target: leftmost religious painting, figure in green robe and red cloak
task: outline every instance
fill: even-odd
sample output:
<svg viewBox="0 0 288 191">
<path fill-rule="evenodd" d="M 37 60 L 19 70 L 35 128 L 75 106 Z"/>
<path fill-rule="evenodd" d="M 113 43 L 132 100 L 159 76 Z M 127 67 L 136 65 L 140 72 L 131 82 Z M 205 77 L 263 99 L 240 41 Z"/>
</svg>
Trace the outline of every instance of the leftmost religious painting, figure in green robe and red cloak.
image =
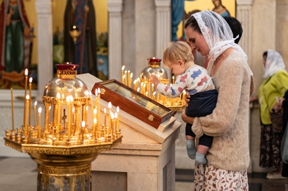
<svg viewBox="0 0 288 191">
<path fill-rule="evenodd" d="M 35 1 L 0 0 L 1 89 L 24 89 L 25 75 L 32 77 L 31 88 L 37 89 Z"/>
</svg>

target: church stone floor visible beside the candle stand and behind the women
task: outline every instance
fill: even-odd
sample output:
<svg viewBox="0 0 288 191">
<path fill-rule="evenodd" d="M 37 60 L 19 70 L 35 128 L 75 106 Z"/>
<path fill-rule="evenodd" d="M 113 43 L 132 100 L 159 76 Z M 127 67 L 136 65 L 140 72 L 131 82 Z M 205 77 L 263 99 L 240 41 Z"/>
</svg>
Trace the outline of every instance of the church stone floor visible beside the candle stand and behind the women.
<svg viewBox="0 0 288 191">
<path fill-rule="evenodd" d="M 249 191 L 288 191 L 288 179 L 267 180 L 265 173 L 248 174 Z M 193 190 L 193 171 L 176 170 L 176 191 Z M 37 165 L 30 158 L 0 157 L 0 191 L 36 191 Z"/>
</svg>

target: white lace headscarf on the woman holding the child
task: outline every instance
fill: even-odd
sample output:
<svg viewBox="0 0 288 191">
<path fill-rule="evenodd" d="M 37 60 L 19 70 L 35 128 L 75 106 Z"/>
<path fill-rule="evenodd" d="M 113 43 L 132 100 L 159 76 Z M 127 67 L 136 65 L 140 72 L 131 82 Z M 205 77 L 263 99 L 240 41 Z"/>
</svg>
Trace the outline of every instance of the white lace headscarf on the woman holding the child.
<svg viewBox="0 0 288 191">
<path fill-rule="evenodd" d="M 234 42 L 233 33 L 227 21 L 213 11 L 201 11 L 192 15 L 197 21 L 202 35 L 209 46 L 208 57 L 214 62 L 220 54 L 228 48 L 241 52 L 247 61 L 247 55 L 242 48 Z M 210 32 L 211 31 L 211 32 Z M 250 70 L 251 76 L 253 75 Z"/>
</svg>

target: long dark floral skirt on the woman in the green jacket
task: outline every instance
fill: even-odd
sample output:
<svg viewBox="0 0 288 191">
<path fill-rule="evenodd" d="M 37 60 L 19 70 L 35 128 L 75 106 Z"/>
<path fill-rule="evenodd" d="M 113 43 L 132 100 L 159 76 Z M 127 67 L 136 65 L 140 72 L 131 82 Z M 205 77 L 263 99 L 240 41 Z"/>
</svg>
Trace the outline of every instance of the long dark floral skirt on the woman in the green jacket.
<svg viewBox="0 0 288 191">
<path fill-rule="evenodd" d="M 282 127 L 261 125 L 260 167 L 279 168 L 282 166 L 280 147 Z"/>
</svg>

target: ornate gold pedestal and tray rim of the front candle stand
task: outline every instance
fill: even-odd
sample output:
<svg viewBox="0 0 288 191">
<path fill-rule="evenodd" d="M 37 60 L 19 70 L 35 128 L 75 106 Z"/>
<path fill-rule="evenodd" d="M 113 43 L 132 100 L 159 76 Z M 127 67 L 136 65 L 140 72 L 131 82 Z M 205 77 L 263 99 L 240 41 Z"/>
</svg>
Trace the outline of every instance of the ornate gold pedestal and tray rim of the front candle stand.
<svg viewBox="0 0 288 191">
<path fill-rule="evenodd" d="M 122 135 L 110 142 L 63 146 L 18 142 L 12 136 L 4 140 L 38 164 L 37 191 L 91 191 L 91 163 L 101 151 L 118 146 Z"/>
</svg>

